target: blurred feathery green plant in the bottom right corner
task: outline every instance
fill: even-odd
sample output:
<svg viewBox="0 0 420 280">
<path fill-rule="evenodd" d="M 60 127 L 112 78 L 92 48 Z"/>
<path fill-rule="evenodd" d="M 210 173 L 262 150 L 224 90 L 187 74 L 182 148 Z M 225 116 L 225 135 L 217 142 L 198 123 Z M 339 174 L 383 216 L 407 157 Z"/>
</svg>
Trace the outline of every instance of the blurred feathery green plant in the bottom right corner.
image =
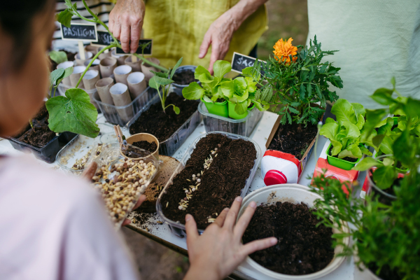
<svg viewBox="0 0 420 280">
<path fill-rule="evenodd" d="M 346 222 L 353 225 L 349 233 L 332 235 L 333 246 L 344 247 L 341 255 L 357 253 L 360 268 L 363 263 L 385 280 L 381 272 L 390 270 L 400 279 L 420 279 L 420 181 L 416 173 L 405 176 L 391 206 L 370 195 L 365 200 L 347 196 L 342 188 L 351 193 L 349 182 L 343 184 L 323 174 L 311 184 L 315 187 L 312 191 L 322 197 L 316 200 L 313 212 L 320 223 L 337 230 Z M 342 243 L 343 237 L 351 237 L 353 243 Z"/>
</svg>

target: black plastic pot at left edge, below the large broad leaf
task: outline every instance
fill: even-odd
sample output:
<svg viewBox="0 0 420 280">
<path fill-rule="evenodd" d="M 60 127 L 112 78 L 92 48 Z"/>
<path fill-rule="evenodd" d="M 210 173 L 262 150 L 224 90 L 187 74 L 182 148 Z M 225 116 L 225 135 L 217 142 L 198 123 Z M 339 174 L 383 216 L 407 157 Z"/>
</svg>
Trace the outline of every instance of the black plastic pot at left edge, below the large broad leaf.
<svg viewBox="0 0 420 280">
<path fill-rule="evenodd" d="M 71 139 L 76 137 L 76 133 L 72 132 L 63 132 L 58 134 L 56 137 L 51 139 L 45 146 L 42 148 L 34 147 L 24 142 L 19 141 L 15 138 L 9 138 L 10 144 L 12 144 L 13 148 L 18 151 L 28 150 L 31 151 L 35 158 L 39 160 L 43 160 L 44 162 L 52 163 L 55 162 L 55 156 Z"/>
</svg>

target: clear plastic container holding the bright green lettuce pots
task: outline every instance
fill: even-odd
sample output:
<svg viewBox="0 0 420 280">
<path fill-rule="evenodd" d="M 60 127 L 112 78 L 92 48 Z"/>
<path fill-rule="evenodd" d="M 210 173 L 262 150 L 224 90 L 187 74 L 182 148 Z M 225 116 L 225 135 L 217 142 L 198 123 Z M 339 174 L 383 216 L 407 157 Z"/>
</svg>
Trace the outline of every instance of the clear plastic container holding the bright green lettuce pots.
<svg viewBox="0 0 420 280">
<path fill-rule="evenodd" d="M 223 131 L 246 137 L 251 135 L 253 129 L 262 118 L 263 113 L 254 108 L 252 111 L 248 112 L 248 116 L 245 118 L 235 120 L 233 118 L 225 118 L 209 113 L 203 102 L 200 102 L 200 105 L 198 105 L 198 111 L 203 116 L 206 132 Z"/>
</svg>

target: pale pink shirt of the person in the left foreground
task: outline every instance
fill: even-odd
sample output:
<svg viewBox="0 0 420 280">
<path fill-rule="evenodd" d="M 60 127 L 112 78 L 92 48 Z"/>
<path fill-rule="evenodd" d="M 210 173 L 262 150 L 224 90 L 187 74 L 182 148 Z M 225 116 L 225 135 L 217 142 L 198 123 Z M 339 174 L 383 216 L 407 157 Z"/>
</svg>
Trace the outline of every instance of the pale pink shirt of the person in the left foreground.
<svg viewBox="0 0 420 280">
<path fill-rule="evenodd" d="M 139 279 L 102 198 L 83 179 L 0 158 L 0 279 Z"/>
</svg>

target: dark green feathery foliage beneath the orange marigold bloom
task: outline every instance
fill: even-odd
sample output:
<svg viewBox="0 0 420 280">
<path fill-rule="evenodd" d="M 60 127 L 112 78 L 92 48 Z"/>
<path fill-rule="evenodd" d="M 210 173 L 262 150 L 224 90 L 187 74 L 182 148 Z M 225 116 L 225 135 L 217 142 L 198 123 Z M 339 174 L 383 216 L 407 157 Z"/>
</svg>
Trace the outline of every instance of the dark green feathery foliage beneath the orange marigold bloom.
<svg viewBox="0 0 420 280">
<path fill-rule="evenodd" d="M 276 113 L 282 115 L 281 124 L 316 125 L 325 112 L 326 102 L 338 99 L 335 91 L 330 90 L 330 85 L 343 87 L 342 79 L 337 75 L 339 68 L 332 66 L 331 62 L 321 62 L 325 56 L 334 55 L 337 50 L 321 50 L 316 36 L 314 41 L 309 41 L 309 48 L 302 45 L 293 48 L 300 48 L 300 51 L 296 55 L 289 55 L 289 59 L 274 55 L 269 57 L 267 63 L 255 63 L 253 71 L 244 75 L 253 78 L 261 86 L 255 93 L 255 99 L 260 104 L 266 108 L 269 105 L 282 105 L 281 109 L 272 106 Z M 262 73 L 259 78 L 255 75 L 257 72 Z"/>
</svg>

